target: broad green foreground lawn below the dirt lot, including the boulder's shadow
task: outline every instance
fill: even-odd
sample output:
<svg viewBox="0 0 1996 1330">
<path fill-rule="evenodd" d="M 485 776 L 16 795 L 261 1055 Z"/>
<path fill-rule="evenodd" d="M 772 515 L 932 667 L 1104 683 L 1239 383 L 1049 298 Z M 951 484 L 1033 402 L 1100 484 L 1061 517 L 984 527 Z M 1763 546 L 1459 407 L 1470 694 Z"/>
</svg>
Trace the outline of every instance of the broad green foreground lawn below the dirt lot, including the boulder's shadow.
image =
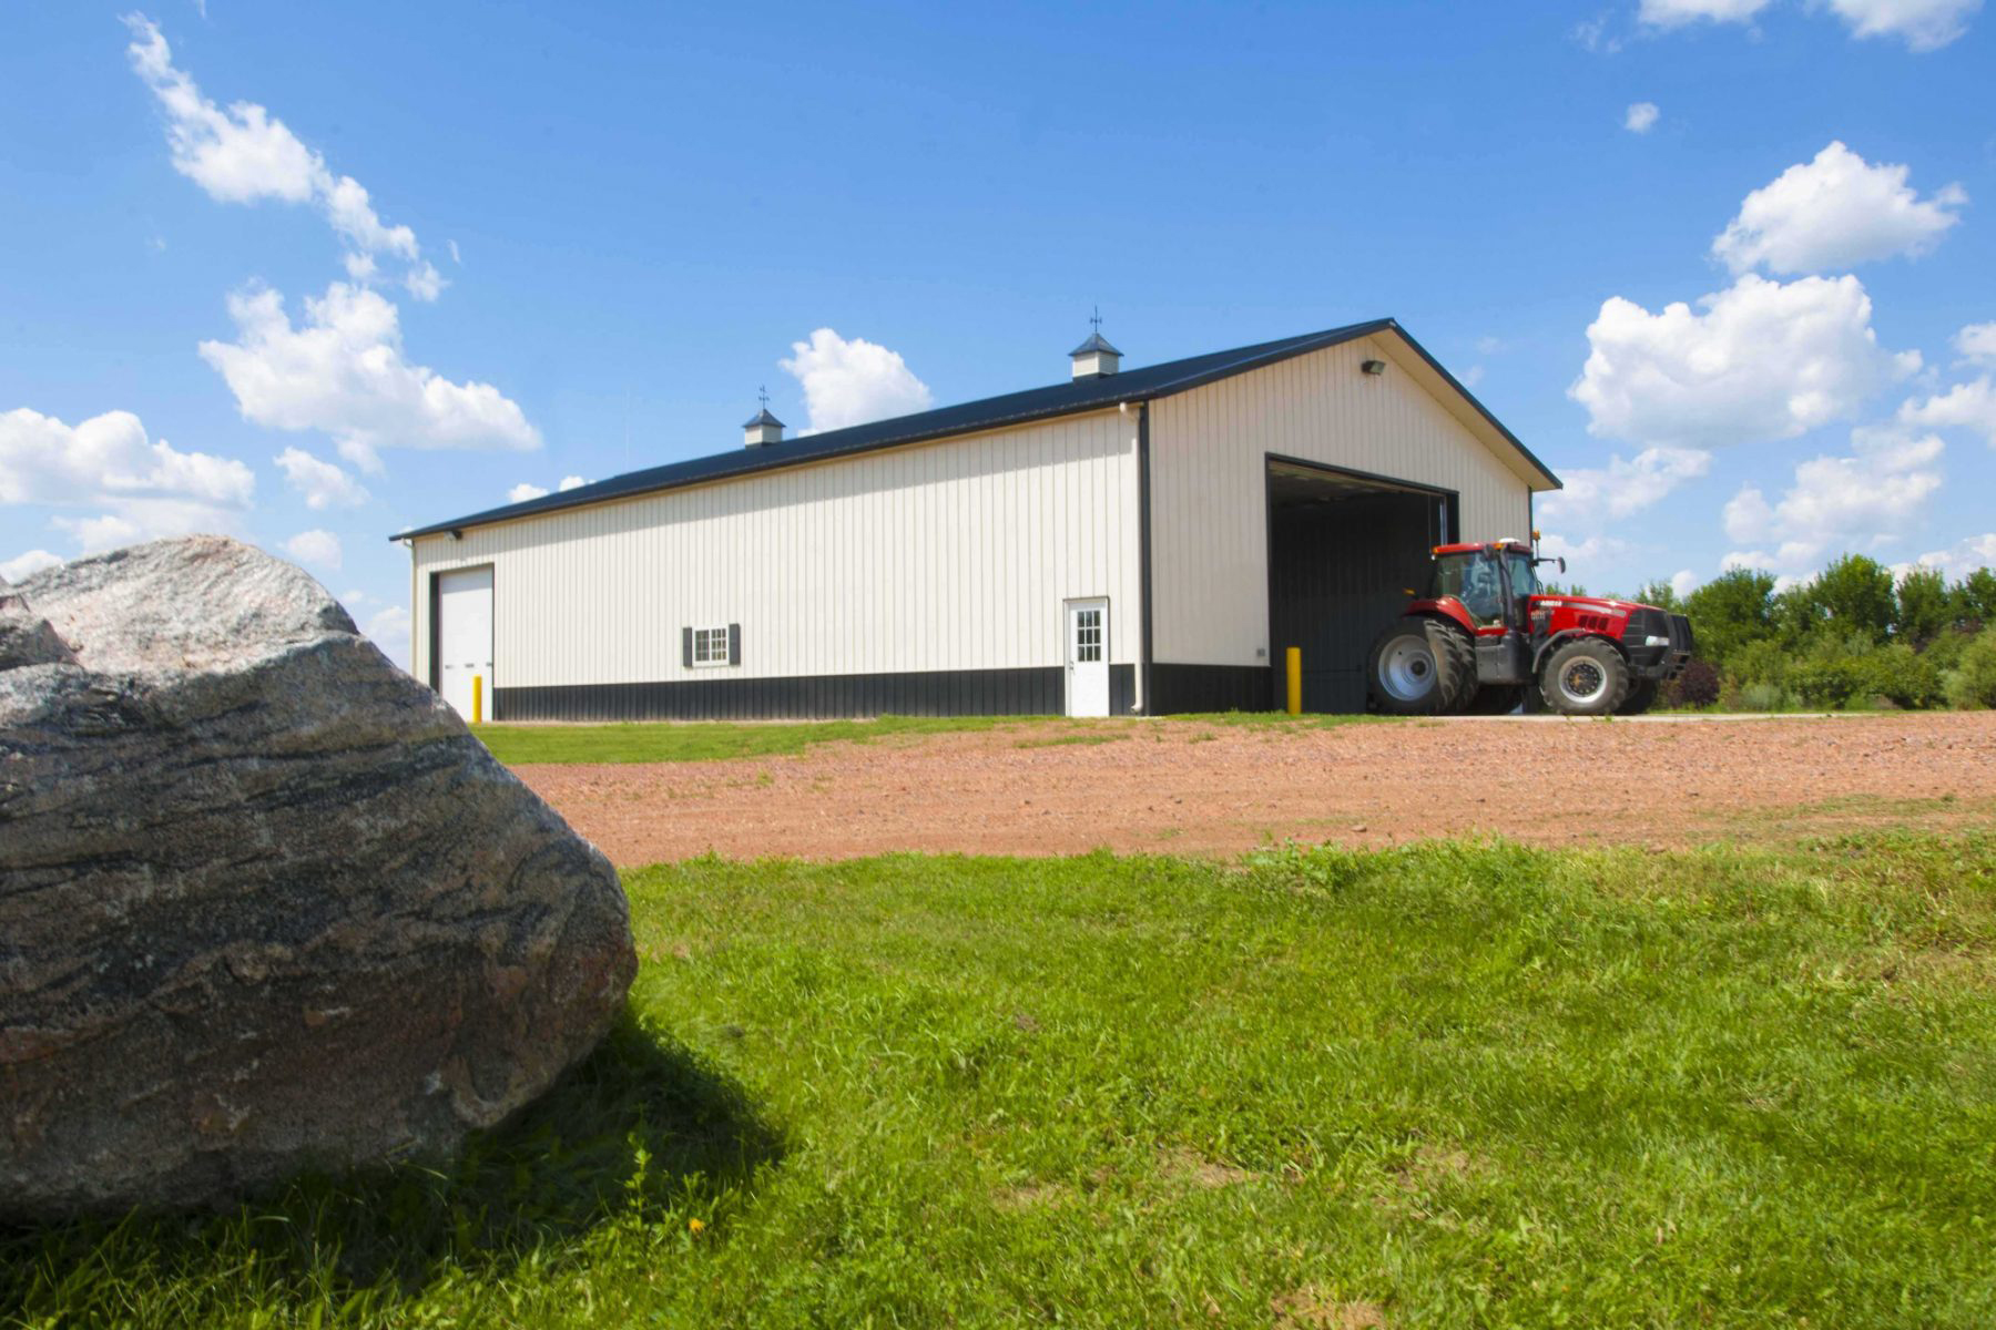
<svg viewBox="0 0 1996 1330">
<path fill-rule="evenodd" d="M 629 1021 L 459 1166 L 4 1234 L 0 1314 L 1996 1324 L 1996 839 L 627 883 Z"/>
</svg>

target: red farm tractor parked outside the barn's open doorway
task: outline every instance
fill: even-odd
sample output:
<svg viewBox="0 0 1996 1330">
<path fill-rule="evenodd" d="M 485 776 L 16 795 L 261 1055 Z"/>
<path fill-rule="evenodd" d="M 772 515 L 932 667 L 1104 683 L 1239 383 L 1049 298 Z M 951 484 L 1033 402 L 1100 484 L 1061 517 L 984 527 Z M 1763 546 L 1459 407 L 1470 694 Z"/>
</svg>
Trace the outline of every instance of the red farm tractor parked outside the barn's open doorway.
<svg viewBox="0 0 1996 1330">
<path fill-rule="evenodd" d="M 1691 620 L 1629 600 L 1545 594 L 1545 562 L 1555 560 L 1523 540 L 1437 544 L 1427 594 L 1373 642 L 1373 706 L 1501 714 L 1543 698 L 1561 716 L 1647 712 L 1691 660 Z"/>
</svg>

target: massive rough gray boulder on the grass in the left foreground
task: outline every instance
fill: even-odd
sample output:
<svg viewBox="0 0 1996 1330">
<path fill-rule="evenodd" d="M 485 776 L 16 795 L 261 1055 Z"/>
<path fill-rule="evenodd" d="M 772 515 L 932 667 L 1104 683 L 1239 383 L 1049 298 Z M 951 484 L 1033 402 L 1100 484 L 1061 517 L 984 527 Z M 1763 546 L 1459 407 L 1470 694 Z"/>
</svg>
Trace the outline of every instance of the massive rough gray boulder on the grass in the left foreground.
<svg viewBox="0 0 1996 1330">
<path fill-rule="evenodd" d="M 0 592 L 0 1218 L 445 1157 L 611 1027 L 609 861 L 309 576 Z"/>
</svg>

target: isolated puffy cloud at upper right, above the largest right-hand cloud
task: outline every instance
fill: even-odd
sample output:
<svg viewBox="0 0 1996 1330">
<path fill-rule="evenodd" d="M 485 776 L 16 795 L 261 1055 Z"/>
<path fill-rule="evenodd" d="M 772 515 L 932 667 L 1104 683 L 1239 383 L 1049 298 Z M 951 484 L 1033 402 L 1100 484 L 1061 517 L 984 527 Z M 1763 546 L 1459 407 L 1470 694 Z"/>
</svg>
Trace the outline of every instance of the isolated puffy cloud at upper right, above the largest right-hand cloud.
<svg viewBox="0 0 1996 1330">
<path fill-rule="evenodd" d="M 1814 160 L 1790 166 L 1741 203 L 1713 255 L 1735 273 L 1816 273 L 1868 259 L 1918 257 L 1960 221 L 1968 193 L 1942 185 L 1920 197 L 1910 167 L 1872 166 L 1832 142 Z"/>
</svg>

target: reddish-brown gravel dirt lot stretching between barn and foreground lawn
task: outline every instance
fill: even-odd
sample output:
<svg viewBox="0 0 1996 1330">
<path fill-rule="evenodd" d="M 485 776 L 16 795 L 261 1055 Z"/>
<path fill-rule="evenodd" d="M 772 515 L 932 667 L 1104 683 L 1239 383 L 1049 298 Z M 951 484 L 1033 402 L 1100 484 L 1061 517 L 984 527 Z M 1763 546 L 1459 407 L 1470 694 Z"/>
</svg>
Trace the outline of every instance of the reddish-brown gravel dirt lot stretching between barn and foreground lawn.
<svg viewBox="0 0 1996 1330">
<path fill-rule="evenodd" d="M 709 849 L 1234 853 L 1465 833 L 1685 845 L 1996 826 L 1992 712 L 1323 730 L 1116 720 L 517 770 L 621 865 Z"/>
</svg>

